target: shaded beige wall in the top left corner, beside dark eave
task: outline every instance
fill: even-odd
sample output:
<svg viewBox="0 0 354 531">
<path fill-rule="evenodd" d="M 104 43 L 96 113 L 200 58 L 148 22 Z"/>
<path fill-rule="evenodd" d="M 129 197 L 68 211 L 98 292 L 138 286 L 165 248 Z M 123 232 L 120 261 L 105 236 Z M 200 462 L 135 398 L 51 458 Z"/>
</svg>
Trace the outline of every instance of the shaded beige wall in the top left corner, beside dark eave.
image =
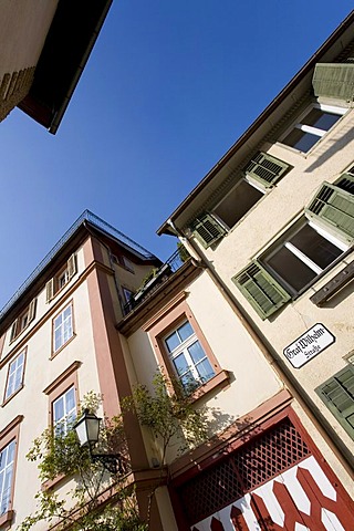
<svg viewBox="0 0 354 531">
<path fill-rule="evenodd" d="M 0 80 L 37 64 L 58 0 L 1 0 Z"/>
</svg>

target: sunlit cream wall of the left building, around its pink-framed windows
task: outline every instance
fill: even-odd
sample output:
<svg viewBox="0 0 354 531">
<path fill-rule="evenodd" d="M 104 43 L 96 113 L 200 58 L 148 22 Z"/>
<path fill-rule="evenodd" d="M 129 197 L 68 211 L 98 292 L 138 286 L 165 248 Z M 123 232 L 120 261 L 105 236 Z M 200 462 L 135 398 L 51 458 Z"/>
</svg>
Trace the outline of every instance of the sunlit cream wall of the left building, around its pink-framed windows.
<svg viewBox="0 0 354 531">
<path fill-rule="evenodd" d="M 63 373 L 74 361 L 82 362 L 77 369 L 79 395 L 83 397 L 87 392 L 100 393 L 95 348 L 90 314 L 90 301 L 86 281 L 81 282 L 84 273 L 83 249 L 77 251 L 77 272 L 67 285 L 54 298 L 51 303 L 45 303 L 45 289 L 38 294 L 35 320 L 19 339 L 9 346 L 8 341 L 3 354 L 14 355 L 27 345 L 27 364 L 24 371 L 24 386 L 1 409 L 2 429 L 17 415 L 23 415 L 20 425 L 18 445 L 18 464 L 14 470 L 14 499 L 13 509 L 15 519 L 11 529 L 15 529 L 21 520 L 33 512 L 35 508 L 34 494 L 40 489 L 35 462 L 29 462 L 25 455 L 34 437 L 39 436 L 49 423 L 49 397 L 43 393 L 55 378 Z M 67 293 L 73 290 L 72 293 Z M 70 341 L 51 360 L 52 317 L 60 312 L 69 301 L 73 301 L 74 339 Z M 34 333 L 33 333 L 34 329 Z M 9 334 L 8 334 L 9 335 Z M 18 348 L 18 345 L 21 345 Z M 11 357 L 12 360 L 13 357 Z M 0 371 L 0 397 L 4 393 L 6 377 L 9 363 Z M 69 485 L 61 486 L 62 492 L 67 492 Z M 46 524 L 38 524 L 35 529 L 45 530 Z"/>
</svg>

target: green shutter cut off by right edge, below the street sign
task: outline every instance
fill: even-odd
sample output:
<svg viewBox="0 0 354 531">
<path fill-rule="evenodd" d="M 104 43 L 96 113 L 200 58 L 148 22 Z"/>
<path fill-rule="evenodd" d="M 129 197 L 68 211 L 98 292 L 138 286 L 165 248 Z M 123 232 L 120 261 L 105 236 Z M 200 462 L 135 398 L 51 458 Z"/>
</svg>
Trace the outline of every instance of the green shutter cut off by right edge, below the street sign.
<svg viewBox="0 0 354 531">
<path fill-rule="evenodd" d="M 354 367 L 348 365 L 322 384 L 316 393 L 354 439 Z"/>
</svg>

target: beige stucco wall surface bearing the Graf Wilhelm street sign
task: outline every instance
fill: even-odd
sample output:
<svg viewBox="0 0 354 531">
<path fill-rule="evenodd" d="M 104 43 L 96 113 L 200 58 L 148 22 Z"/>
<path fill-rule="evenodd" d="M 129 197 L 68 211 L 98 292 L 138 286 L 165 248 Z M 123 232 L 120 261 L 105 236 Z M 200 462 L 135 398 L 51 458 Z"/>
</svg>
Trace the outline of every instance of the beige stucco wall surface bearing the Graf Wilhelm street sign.
<svg viewBox="0 0 354 531">
<path fill-rule="evenodd" d="M 295 301 L 285 304 L 277 314 L 264 321 L 259 317 L 235 287 L 231 278 L 250 260 L 264 251 L 281 232 L 291 226 L 294 219 L 301 216 L 304 207 L 309 205 L 324 180 L 333 183 L 342 173 L 353 166 L 353 127 L 354 111 L 348 110 L 309 154 L 300 153 L 279 142 L 261 146 L 261 149 L 289 163 L 293 168 L 230 230 L 215 250 L 202 250 L 211 267 L 216 269 L 236 299 L 243 305 L 256 326 L 280 357 L 283 357 L 284 347 L 315 323 L 324 324 L 335 336 L 334 344 L 301 368 L 293 368 L 288 361 L 285 363 L 351 451 L 354 451 L 354 441 L 317 397 L 314 389 L 346 365 L 344 356 L 354 348 L 353 287 L 348 284 L 324 308 L 314 305 L 310 301 L 310 296 L 340 272 L 345 264 L 352 262 L 353 253 L 346 256 L 341 263 L 332 268 Z M 300 416 L 304 424 L 312 426 L 301 409 Z M 332 450 L 324 445 L 313 426 L 310 431 L 323 450 L 325 458 L 331 461 L 337 476 L 347 488 L 352 489 L 352 482 L 339 465 Z"/>
</svg>

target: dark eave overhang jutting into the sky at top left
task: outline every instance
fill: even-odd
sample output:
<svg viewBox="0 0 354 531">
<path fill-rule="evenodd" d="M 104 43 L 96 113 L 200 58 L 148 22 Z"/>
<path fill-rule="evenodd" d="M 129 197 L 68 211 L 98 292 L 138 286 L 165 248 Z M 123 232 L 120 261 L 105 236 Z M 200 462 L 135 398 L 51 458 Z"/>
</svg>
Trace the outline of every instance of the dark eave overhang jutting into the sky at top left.
<svg viewBox="0 0 354 531">
<path fill-rule="evenodd" d="M 60 0 L 29 94 L 18 105 L 55 134 L 113 0 Z"/>
</svg>

